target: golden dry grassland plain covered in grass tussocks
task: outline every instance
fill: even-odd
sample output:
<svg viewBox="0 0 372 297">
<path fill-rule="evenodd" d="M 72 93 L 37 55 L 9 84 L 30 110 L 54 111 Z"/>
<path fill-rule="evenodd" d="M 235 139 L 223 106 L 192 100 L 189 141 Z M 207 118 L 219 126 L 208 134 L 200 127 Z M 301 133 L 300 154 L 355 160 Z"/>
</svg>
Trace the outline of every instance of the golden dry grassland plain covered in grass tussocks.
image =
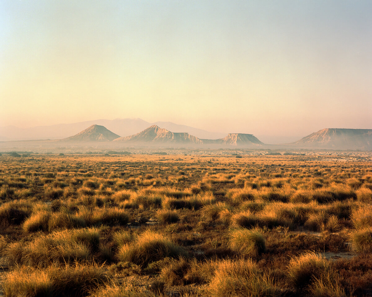
<svg viewBox="0 0 372 297">
<path fill-rule="evenodd" d="M 371 296 L 370 160 L 2 154 L 2 294 Z"/>
</svg>

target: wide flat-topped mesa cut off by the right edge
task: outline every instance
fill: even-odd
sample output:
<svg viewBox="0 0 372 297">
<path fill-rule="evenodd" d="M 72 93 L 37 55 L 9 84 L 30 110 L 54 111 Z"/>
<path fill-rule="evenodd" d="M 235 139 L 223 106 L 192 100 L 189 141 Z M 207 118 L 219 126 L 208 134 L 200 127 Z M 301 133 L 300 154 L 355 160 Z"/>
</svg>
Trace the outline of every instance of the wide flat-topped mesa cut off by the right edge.
<svg viewBox="0 0 372 297">
<path fill-rule="evenodd" d="M 305 136 L 291 143 L 291 145 L 344 150 L 368 150 L 372 149 L 372 130 L 325 128 Z"/>
</svg>

